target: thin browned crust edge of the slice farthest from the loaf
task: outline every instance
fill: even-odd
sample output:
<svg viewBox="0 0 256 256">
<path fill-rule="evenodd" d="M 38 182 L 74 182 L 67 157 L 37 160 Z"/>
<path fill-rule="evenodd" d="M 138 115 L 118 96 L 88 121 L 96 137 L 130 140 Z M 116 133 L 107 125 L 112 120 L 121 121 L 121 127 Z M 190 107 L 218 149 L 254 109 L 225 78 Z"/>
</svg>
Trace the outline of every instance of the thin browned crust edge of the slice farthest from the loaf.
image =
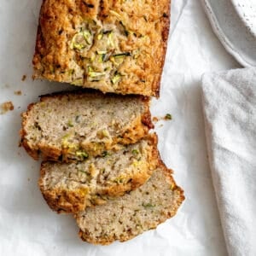
<svg viewBox="0 0 256 256">
<path fill-rule="evenodd" d="M 151 224 L 150 226 L 150 230 L 154 230 L 156 229 L 156 227 L 165 222 L 165 220 L 167 218 L 172 218 L 176 213 L 177 213 L 177 209 L 178 207 L 180 207 L 180 205 L 182 204 L 182 202 L 185 200 L 185 197 L 183 195 L 183 189 L 181 189 L 180 187 L 177 186 L 177 184 L 175 183 L 173 177 L 172 177 L 172 170 L 168 169 L 165 164 L 160 160 L 160 163 L 159 163 L 159 166 L 161 166 L 163 172 L 164 172 L 164 175 L 166 176 L 166 179 L 169 180 L 169 183 L 172 184 L 172 191 L 176 191 L 177 195 L 178 195 L 178 199 L 176 201 L 176 204 L 175 204 L 175 208 L 172 209 L 172 212 L 168 211 L 166 213 L 162 212 L 162 214 L 166 214 L 166 218 L 159 218 L 159 221 L 158 223 L 155 223 L 155 224 Z M 139 234 L 137 234 L 139 235 Z M 134 235 L 132 233 L 126 233 L 125 235 L 121 236 L 121 237 L 116 237 L 113 233 L 113 236 L 110 236 L 108 234 L 108 236 L 100 236 L 100 237 L 97 237 L 96 239 L 92 238 L 92 236 L 90 236 L 90 234 L 86 233 L 86 230 L 83 231 L 83 230 L 79 230 L 79 237 L 83 240 L 83 241 L 87 241 L 87 242 L 90 242 L 92 244 L 95 244 L 95 245 L 98 245 L 98 244 L 101 244 L 101 245 L 108 245 L 110 243 L 112 243 L 113 241 L 128 241 L 128 240 L 131 240 L 133 237 L 137 236 L 137 235 Z"/>
</svg>

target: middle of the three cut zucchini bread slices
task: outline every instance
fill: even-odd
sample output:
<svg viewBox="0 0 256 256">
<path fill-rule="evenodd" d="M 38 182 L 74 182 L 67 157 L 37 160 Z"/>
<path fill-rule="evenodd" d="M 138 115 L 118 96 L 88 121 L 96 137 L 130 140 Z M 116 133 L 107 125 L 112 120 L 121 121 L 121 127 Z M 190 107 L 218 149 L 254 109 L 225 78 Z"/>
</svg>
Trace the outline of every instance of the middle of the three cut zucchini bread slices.
<svg viewBox="0 0 256 256">
<path fill-rule="evenodd" d="M 43 162 L 38 184 L 51 209 L 78 212 L 145 183 L 158 158 L 156 135 L 150 135 L 119 151 L 82 162 Z"/>
</svg>

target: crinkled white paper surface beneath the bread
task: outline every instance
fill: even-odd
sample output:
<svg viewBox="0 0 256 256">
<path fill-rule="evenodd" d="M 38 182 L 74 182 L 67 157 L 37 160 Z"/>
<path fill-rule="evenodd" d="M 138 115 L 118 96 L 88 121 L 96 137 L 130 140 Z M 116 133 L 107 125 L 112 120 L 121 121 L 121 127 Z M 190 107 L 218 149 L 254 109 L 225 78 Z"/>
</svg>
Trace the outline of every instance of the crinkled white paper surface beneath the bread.
<svg viewBox="0 0 256 256">
<path fill-rule="evenodd" d="M 0 115 L 0 255 L 226 255 L 207 162 L 201 74 L 239 66 L 213 34 L 199 1 L 173 0 L 161 95 L 152 107 L 153 115 L 172 113 L 172 121 L 158 123 L 156 131 L 160 153 L 175 170 L 186 201 L 157 230 L 108 247 L 80 241 L 73 218 L 49 210 L 37 186 L 39 162 L 18 148 L 20 113 L 27 104 L 67 88 L 31 79 L 40 4 L 0 4 L 0 103 L 15 105 L 13 112 Z"/>
</svg>

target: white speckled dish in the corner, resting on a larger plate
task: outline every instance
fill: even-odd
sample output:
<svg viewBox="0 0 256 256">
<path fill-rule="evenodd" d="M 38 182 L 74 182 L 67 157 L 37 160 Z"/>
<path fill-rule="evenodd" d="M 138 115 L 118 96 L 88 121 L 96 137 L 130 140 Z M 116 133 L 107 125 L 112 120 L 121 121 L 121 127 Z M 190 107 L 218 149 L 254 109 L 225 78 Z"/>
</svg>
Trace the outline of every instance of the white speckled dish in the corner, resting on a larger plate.
<svg viewBox="0 0 256 256">
<path fill-rule="evenodd" d="M 231 0 L 241 21 L 256 37 L 256 0 Z"/>
</svg>

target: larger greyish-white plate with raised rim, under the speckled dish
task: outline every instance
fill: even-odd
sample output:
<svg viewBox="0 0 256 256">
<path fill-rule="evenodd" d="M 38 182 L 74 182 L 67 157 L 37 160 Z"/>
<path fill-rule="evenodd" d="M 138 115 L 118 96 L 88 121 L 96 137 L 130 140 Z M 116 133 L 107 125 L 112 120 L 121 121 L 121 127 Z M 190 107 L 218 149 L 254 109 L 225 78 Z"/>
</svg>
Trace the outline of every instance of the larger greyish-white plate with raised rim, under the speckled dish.
<svg viewBox="0 0 256 256">
<path fill-rule="evenodd" d="M 256 37 L 252 30 L 248 32 L 233 3 L 230 0 L 201 0 L 201 3 L 213 32 L 230 55 L 244 67 L 256 67 Z"/>
</svg>

